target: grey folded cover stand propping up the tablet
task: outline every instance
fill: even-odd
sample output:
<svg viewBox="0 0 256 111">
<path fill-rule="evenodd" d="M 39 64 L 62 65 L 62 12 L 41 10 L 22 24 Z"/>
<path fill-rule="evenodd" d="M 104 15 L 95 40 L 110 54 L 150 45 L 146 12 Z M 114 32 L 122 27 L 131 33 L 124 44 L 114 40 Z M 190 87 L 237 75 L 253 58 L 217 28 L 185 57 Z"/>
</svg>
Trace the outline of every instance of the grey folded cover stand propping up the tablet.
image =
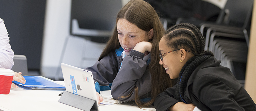
<svg viewBox="0 0 256 111">
<path fill-rule="evenodd" d="M 97 102 L 73 93 L 64 91 L 59 99 L 60 103 L 64 103 L 84 111 L 97 111 Z"/>
</svg>

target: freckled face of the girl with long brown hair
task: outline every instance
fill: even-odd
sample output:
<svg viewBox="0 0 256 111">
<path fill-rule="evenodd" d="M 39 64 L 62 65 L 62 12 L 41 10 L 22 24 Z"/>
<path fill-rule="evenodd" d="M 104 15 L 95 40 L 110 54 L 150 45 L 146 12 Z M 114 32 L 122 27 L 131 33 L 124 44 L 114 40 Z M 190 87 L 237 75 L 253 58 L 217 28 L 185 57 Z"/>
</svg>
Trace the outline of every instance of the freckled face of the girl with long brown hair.
<svg viewBox="0 0 256 111">
<path fill-rule="evenodd" d="M 135 45 L 141 41 L 149 41 L 149 36 L 146 31 L 140 29 L 135 24 L 128 22 L 126 19 L 117 21 L 118 40 L 126 55 Z"/>
</svg>

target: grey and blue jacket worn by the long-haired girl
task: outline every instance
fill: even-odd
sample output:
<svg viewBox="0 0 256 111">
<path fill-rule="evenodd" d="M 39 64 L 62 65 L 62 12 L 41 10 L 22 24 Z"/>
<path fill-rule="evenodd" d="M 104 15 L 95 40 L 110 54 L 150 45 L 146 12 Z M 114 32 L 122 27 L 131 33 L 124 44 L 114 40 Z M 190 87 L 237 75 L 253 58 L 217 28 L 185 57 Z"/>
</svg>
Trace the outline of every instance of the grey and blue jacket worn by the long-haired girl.
<svg viewBox="0 0 256 111">
<path fill-rule="evenodd" d="M 134 99 L 134 87 L 138 87 L 140 99 L 148 98 L 151 95 L 151 74 L 148 69 L 150 55 L 144 56 L 135 50 L 122 59 L 122 47 L 110 52 L 97 61 L 92 67 L 86 68 L 93 72 L 96 91 L 110 90 L 114 99 L 121 101 Z"/>
</svg>

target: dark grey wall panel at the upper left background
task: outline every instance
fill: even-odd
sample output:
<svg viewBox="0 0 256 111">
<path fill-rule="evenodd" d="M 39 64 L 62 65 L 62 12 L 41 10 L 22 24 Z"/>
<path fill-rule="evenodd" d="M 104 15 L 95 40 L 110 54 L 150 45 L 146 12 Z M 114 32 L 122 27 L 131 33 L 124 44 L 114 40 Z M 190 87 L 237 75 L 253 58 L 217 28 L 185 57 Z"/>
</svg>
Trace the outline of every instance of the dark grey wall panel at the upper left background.
<svg viewBox="0 0 256 111">
<path fill-rule="evenodd" d="M 0 18 L 9 32 L 11 49 L 27 57 L 28 69 L 40 69 L 46 0 L 1 0 Z"/>
</svg>

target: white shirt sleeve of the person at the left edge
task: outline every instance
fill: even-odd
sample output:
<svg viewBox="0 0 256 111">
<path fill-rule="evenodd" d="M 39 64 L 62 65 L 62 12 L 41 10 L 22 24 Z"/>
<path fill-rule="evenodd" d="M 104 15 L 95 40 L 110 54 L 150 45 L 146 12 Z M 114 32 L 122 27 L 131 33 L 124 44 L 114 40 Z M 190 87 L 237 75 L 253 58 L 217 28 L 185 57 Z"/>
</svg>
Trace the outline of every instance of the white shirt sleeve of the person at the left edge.
<svg viewBox="0 0 256 111">
<path fill-rule="evenodd" d="M 11 50 L 9 41 L 4 21 L 0 19 L 0 68 L 11 69 L 14 64 L 14 52 Z"/>
</svg>

